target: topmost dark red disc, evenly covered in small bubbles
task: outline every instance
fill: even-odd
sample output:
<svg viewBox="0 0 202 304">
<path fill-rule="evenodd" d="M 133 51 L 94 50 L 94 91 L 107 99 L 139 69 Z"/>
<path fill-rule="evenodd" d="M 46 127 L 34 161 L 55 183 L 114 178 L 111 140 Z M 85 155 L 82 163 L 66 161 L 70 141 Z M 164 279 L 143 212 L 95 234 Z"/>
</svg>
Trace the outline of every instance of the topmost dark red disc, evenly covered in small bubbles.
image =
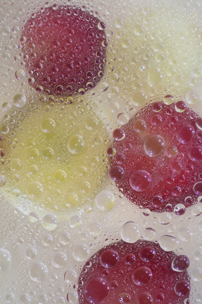
<svg viewBox="0 0 202 304">
<path fill-rule="evenodd" d="M 104 28 L 98 17 L 76 7 L 48 7 L 31 16 L 21 37 L 29 84 L 63 96 L 93 88 L 104 74 Z"/>
</svg>

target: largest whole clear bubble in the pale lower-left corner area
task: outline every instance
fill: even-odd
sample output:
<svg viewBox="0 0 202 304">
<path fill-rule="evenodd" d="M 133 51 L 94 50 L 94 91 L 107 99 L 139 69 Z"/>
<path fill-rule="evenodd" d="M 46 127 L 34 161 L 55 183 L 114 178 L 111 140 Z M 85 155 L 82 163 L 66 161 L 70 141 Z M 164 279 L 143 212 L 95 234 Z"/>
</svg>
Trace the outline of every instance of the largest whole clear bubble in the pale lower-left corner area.
<svg viewBox="0 0 202 304">
<path fill-rule="evenodd" d="M 41 262 L 35 262 L 29 268 L 29 277 L 34 282 L 44 282 L 48 276 L 48 268 Z"/>
</svg>

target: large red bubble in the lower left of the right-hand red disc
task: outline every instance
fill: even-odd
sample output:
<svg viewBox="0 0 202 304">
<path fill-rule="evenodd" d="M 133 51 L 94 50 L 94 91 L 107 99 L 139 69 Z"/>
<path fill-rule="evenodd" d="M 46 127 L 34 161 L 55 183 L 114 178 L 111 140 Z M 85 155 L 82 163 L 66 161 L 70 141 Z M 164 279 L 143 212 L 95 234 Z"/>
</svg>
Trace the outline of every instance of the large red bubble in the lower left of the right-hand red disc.
<svg viewBox="0 0 202 304">
<path fill-rule="evenodd" d="M 151 185 L 151 175 L 144 170 L 133 171 L 129 178 L 131 188 L 137 192 L 145 192 Z"/>
</svg>

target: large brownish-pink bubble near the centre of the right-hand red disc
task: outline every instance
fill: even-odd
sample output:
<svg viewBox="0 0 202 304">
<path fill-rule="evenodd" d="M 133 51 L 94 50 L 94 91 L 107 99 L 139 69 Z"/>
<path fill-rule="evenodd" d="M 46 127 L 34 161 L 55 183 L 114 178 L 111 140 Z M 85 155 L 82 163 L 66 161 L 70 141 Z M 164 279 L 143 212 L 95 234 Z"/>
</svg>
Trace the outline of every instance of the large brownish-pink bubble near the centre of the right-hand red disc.
<svg viewBox="0 0 202 304">
<path fill-rule="evenodd" d="M 144 140 L 144 151 L 150 157 L 156 157 L 163 153 L 165 140 L 161 135 L 150 135 Z"/>
</svg>

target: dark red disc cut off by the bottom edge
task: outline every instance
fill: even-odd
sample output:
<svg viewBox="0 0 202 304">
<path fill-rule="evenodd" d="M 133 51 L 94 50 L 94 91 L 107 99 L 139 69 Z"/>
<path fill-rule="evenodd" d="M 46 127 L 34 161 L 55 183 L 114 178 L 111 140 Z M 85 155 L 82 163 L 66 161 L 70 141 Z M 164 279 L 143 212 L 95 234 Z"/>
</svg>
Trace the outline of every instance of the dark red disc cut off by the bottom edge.
<svg viewBox="0 0 202 304">
<path fill-rule="evenodd" d="M 119 262 L 106 273 L 99 258 L 108 250 L 116 252 Z M 138 240 L 130 244 L 121 240 L 110 244 L 93 253 L 88 263 L 91 266 L 82 269 L 78 278 L 78 282 L 82 282 L 78 288 L 78 302 L 97 303 L 100 299 L 99 304 L 178 303 L 180 297 L 180 303 L 184 303 L 189 298 L 190 278 L 186 269 L 173 269 L 175 259 L 174 252 L 164 251 L 158 243 L 151 241 Z M 178 259 L 175 265 L 181 270 L 187 267 L 186 261 L 187 258 Z"/>
</svg>

